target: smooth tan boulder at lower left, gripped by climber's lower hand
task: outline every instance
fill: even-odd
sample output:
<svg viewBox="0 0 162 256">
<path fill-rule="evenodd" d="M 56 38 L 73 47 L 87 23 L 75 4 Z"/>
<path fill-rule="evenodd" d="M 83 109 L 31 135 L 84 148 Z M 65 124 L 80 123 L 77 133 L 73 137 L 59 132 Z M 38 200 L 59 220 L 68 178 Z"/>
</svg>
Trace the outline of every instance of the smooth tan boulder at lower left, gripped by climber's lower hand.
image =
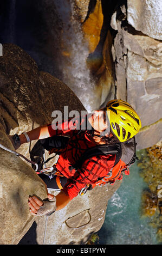
<svg viewBox="0 0 162 256">
<path fill-rule="evenodd" d="M 14 150 L 2 125 L 0 133 L 1 144 Z M 15 245 L 34 222 L 28 207 L 29 195 L 47 198 L 47 190 L 44 182 L 20 157 L 0 149 L 0 159 L 0 243 Z"/>
</svg>

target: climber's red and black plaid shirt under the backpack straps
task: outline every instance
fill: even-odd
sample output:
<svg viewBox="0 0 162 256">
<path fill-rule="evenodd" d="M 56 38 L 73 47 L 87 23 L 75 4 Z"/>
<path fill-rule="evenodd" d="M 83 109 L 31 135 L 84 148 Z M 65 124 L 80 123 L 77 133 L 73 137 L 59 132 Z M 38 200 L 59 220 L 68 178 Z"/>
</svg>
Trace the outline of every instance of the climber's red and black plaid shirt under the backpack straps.
<svg viewBox="0 0 162 256">
<path fill-rule="evenodd" d="M 75 126 L 86 122 L 86 116 L 81 120 L 75 119 Z M 80 160 L 81 155 L 87 148 L 93 148 L 96 144 L 88 138 L 86 130 L 74 129 L 74 119 L 56 124 L 59 129 L 54 130 L 53 125 L 49 124 L 50 136 L 68 135 L 70 136 L 67 147 L 61 153 L 57 161 L 56 168 L 59 172 L 68 178 L 63 191 L 68 194 L 72 200 L 80 192 L 81 188 L 87 184 L 94 184 L 99 178 L 103 178 L 112 169 L 115 162 L 115 155 L 92 156 L 87 159 L 80 169 L 73 168 L 74 164 Z"/>
</svg>

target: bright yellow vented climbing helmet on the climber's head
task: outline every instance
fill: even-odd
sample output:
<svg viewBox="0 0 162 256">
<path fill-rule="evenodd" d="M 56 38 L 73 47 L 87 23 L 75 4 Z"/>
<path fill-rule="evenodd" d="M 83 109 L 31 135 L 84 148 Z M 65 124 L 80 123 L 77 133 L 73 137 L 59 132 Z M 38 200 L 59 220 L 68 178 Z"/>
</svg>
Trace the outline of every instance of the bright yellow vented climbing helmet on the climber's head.
<svg viewBox="0 0 162 256">
<path fill-rule="evenodd" d="M 120 142 L 125 142 L 136 135 L 141 128 L 141 121 L 133 107 L 124 100 L 111 100 L 106 105 L 112 131 Z"/>
</svg>

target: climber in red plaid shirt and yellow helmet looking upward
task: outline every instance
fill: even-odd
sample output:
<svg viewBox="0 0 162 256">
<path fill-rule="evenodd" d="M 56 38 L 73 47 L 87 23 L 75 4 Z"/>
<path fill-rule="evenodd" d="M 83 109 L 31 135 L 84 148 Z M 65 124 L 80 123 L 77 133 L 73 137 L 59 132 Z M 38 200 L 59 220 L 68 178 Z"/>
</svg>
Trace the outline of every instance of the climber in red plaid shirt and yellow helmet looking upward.
<svg viewBox="0 0 162 256">
<path fill-rule="evenodd" d="M 78 127 L 83 122 L 88 124 L 85 130 L 70 129 L 70 127 L 74 127 L 74 123 Z M 92 127 L 91 130 L 88 129 L 89 124 Z M 62 177 L 61 191 L 56 197 L 48 194 L 49 200 L 56 199 L 55 209 L 49 212 L 64 208 L 70 200 L 80 194 L 83 188 L 92 188 L 96 181 L 100 181 L 107 173 L 111 172 L 115 163 L 115 155 L 111 154 L 89 157 L 80 168 L 76 168 L 76 163 L 87 148 L 128 141 L 139 132 L 141 121 L 128 102 L 112 100 L 107 103 L 105 108 L 99 109 L 93 114 L 87 114 L 82 119 L 76 118 L 75 122 L 68 120 L 60 124 L 57 123 L 57 128 L 59 129 L 53 129 L 51 124 L 43 125 L 29 132 L 24 132 L 20 136 L 15 135 L 14 140 L 12 140 L 15 149 L 17 149 L 21 144 L 35 139 L 38 141 L 45 139 L 46 141 L 46 138 L 69 136 L 55 165 L 57 172 Z M 120 178 L 119 176 L 116 177 L 116 179 Z M 50 183 L 55 184 L 55 179 L 51 179 Z M 45 205 L 45 202 L 37 197 L 29 197 L 28 203 L 32 215 L 38 215 L 40 209 Z M 47 214 L 48 211 L 45 210 L 44 212 Z"/>
</svg>

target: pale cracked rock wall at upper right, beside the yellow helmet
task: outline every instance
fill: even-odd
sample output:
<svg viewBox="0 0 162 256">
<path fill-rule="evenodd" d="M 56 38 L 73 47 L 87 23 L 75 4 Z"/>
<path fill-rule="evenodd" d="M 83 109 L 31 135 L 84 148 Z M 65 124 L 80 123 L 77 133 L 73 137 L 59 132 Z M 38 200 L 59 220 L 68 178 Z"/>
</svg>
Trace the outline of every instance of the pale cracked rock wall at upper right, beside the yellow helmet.
<svg viewBox="0 0 162 256">
<path fill-rule="evenodd" d="M 141 4 L 139 4 L 141 2 Z M 147 1 L 147 7 L 152 8 L 151 14 L 156 12 L 159 1 L 151 4 Z M 133 3 L 135 3 L 133 5 Z M 113 60 L 115 62 L 116 97 L 127 100 L 137 110 L 141 118 L 142 129 L 137 135 L 138 149 L 144 149 L 160 141 L 161 130 L 161 41 L 159 39 L 158 12 L 152 20 L 150 15 L 145 19 L 141 15 L 145 29 L 150 29 L 157 36 L 140 30 L 133 23 L 131 14 L 138 14 L 145 8 L 144 1 L 128 1 L 128 16 L 126 7 L 122 5 L 112 16 L 111 26 L 117 31 L 112 47 Z M 141 8 L 141 9 L 140 9 Z M 137 17 L 134 15 L 134 19 Z M 156 19 L 156 20 L 155 20 Z M 159 17 L 160 19 L 160 17 Z M 140 23 L 140 19 L 138 19 Z M 156 24 L 155 24 L 156 22 Z M 134 26 L 132 27 L 129 23 Z M 146 34 L 150 35 L 146 35 Z M 152 36 L 152 37 L 151 37 Z M 152 136 L 154 134 L 154 136 Z"/>
</svg>

